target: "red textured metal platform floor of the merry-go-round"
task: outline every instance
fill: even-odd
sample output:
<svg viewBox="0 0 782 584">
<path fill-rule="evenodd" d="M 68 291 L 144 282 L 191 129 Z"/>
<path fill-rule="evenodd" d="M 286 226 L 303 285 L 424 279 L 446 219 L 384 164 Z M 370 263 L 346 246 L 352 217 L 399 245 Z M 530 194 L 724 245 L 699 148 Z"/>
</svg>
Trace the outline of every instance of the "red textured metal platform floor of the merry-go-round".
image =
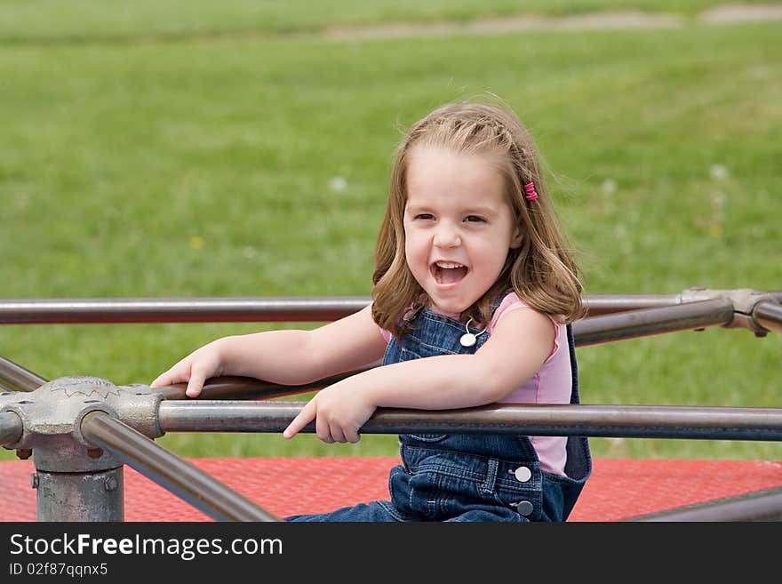
<svg viewBox="0 0 782 584">
<path fill-rule="evenodd" d="M 319 513 L 388 498 L 396 458 L 189 459 L 277 516 Z M 31 460 L 0 462 L 0 521 L 36 521 Z M 211 521 L 146 476 L 125 467 L 125 521 Z M 594 460 L 570 521 L 618 521 L 782 486 L 782 461 Z"/>
</svg>

